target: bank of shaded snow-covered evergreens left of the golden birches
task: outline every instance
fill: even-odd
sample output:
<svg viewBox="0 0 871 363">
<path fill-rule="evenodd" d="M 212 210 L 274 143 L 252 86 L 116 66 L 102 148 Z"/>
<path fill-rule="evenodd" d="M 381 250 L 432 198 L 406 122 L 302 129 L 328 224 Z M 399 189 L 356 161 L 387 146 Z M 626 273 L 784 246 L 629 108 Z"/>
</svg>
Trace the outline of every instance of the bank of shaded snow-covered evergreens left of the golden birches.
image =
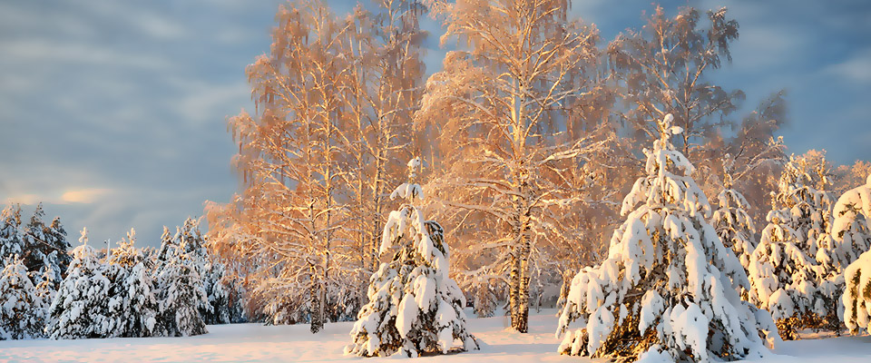
<svg viewBox="0 0 871 363">
<path fill-rule="evenodd" d="M 246 294 L 205 248 L 199 220 L 161 248 L 137 248 L 136 231 L 112 249 L 89 244 L 83 229 L 69 250 L 59 218 L 26 225 L 21 208 L 0 213 L 0 340 L 190 336 L 206 324 L 246 321 Z"/>
</svg>

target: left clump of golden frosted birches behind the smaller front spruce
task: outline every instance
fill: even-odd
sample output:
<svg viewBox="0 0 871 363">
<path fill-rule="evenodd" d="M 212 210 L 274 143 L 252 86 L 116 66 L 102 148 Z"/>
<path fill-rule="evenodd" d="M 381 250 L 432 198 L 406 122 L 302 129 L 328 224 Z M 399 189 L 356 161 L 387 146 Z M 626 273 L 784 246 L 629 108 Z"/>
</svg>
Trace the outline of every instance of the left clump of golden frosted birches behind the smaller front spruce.
<svg viewBox="0 0 871 363">
<path fill-rule="evenodd" d="M 210 246 L 249 281 L 273 323 L 353 319 L 377 266 L 388 171 L 411 137 L 425 33 L 416 1 L 339 19 L 282 6 L 269 54 L 247 72 L 256 114 L 230 120 L 242 181 L 210 204 Z"/>
</svg>

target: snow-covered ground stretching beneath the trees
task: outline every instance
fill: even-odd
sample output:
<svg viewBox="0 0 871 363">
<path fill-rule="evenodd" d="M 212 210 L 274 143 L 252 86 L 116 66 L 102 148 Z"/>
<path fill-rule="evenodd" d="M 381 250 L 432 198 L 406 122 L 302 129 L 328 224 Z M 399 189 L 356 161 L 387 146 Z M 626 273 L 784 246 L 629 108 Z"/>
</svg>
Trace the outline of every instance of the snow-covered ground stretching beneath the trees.
<svg viewBox="0 0 871 363">
<path fill-rule="evenodd" d="M 417 358 L 420 362 L 587 362 L 560 356 L 555 310 L 530 318 L 530 333 L 505 327 L 507 319 L 471 319 L 470 329 L 484 342 L 481 350 Z M 307 325 L 265 327 L 259 324 L 209 326 L 209 334 L 191 338 L 108 338 L 87 340 L 0 341 L 0 362 L 378 362 L 390 358 L 342 355 L 351 323 L 328 324 L 317 336 Z M 807 338 L 788 341 L 777 356 L 762 361 L 871 362 L 871 337 Z M 391 359 L 392 360 L 392 359 Z M 594 361 L 603 361 L 602 359 Z"/>
</svg>

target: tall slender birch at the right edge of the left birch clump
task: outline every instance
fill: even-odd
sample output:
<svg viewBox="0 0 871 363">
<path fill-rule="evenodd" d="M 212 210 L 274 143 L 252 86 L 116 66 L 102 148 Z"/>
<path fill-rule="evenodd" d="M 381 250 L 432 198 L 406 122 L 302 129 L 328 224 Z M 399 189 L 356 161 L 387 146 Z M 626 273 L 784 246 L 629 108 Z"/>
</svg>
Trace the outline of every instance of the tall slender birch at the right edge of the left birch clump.
<svg viewBox="0 0 871 363">
<path fill-rule="evenodd" d="M 341 93 L 343 182 L 353 217 L 347 238 L 359 251 L 358 298 L 365 299 L 367 277 L 377 270 L 377 240 L 384 223 L 387 186 L 397 182 L 413 136 L 411 118 L 423 93 L 420 57 L 426 32 L 418 19 L 426 6 L 416 0 L 376 0 L 375 11 L 357 5 L 348 17 L 342 53 L 353 59 Z M 406 153 L 406 154 L 403 154 Z"/>
</svg>

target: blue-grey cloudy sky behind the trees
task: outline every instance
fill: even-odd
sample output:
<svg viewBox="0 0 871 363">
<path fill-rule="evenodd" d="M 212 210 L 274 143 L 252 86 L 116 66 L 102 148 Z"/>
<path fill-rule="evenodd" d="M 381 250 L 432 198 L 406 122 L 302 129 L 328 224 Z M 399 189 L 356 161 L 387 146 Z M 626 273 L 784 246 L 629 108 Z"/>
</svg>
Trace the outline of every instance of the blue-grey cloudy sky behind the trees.
<svg viewBox="0 0 871 363">
<path fill-rule="evenodd" d="M 0 202 L 24 219 L 44 203 L 75 246 L 157 246 L 162 226 L 200 216 L 237 189 L 227 117 L 252 109 L 245 66 L 269 51 L 278 0 L 0 2 Z M 329 0 L 339 15 L 356 4 Z M 365 4 L 365 3 L 364 3 Z M 732 64 L 711 80 L 741 89 L 751 111 L 788 94 L 788 152 L 827 150 L 838 164 L 871 161 L 871 2 L 663 1 L 729 8 L 738 20 Z M 574 1 L 604 40 L 643 25 L 650 0 Z M 424 27 L 427 72 L 445 49 Z"/>
</svg>

